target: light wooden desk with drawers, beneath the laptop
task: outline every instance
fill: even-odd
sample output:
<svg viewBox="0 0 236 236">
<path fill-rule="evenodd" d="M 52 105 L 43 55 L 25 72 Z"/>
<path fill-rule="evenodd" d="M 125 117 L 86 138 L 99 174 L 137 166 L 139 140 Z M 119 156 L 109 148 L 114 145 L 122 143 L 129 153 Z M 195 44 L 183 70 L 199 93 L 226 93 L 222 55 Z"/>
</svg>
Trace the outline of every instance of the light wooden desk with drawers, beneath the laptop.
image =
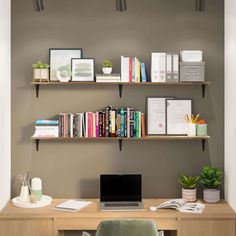
<svg viewBox="0 0 236 236">
<path fill-rule="evenodd" d="M 174 230 L 177 236 L 235 236 L 235 213 L 227 203 L 207 204 L 202 214 L 179 213 L 149 207 L 165 199 L 144 200 L 144 212 L 100 212 L 98 200 L 76 213 L 51 208 L 65 200 L 54 200 L 41 209 L 16 208 L 11 202 L 0 212 L 0 236 L 62 236 L 64 230 L 96 230 L 102 220 L 139 218 L 153 219 L 159 229 Z"/>
</svg>

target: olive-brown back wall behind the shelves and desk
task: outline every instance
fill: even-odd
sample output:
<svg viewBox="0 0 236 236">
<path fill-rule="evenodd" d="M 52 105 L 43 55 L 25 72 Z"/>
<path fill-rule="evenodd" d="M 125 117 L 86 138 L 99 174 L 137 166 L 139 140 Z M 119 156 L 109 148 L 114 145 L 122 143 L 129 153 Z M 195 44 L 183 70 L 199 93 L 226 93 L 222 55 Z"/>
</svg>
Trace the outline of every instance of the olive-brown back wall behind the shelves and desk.
<svg viewBox="0 0 236 236">
<path fill-rule="evenodd" d="M 223 168 L 224 1 L 206 0 L 196 12 L 194 0 L 127 0 L 128 10 L 115 11 L 115 0 L 45 0 L 34 12 L 30 0 L 12 1 L 12 195 L 19 193 L 17 176 L 40 176 L 44 193 L 55 198 L 98 197 L 101 173 L 142 173 L 145 198 L 179 197 L 176 176 L 199 174 L 204 164 Z M 120 69 L 120 55 L 133 55 L 150 68 L 155 51 L 202 49 L 206 79 L 212 84 L 201 97 L 198 86 L 116 86 L 41 88 L 35 98 L 31 64 L 48 60 L 50 47 L 83 48 L 96 59 Z M 109 104 L 145 111 L 146 96 L 192 98 L 195 113 L 209 123 L 212 139 L 202 152 L 200 142 L 124 141 L 123 151 L 109 141 L 42 142 L 39 152 L 30 140 L 33 121 L 59 112 L 95 111 Z"/>
</svg>

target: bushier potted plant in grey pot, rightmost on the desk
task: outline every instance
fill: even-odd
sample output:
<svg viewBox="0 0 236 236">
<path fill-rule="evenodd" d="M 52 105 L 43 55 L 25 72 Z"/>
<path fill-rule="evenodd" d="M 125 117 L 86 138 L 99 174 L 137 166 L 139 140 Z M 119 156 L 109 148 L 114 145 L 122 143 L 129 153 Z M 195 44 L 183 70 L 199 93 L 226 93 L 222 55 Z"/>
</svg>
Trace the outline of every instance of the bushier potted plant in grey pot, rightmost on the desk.
<svg viewBox="0 0 236 236">
<path fill-rule="evenodd" d="M 203 185 L 203 200 L 208 203 L 220 201 L 220 185 L 222 184 L 223 172 L 219 168 L 204 166 L 200 176 Z"/>
</svg>

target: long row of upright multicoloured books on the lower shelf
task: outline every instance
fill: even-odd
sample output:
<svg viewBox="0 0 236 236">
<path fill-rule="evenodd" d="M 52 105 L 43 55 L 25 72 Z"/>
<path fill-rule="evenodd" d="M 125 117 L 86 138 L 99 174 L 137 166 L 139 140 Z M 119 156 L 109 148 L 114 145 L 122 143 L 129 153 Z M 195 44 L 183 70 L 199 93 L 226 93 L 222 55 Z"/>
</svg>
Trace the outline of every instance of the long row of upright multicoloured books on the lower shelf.
<svg viewBox="0 0 236 236">
<path fill-rule="evenodd" d="M 127 137 L 145 136 L 144 114 L 134 108 L 112 108 L 84 113 L 60 113 L 61 137 Z"/>
</svg>

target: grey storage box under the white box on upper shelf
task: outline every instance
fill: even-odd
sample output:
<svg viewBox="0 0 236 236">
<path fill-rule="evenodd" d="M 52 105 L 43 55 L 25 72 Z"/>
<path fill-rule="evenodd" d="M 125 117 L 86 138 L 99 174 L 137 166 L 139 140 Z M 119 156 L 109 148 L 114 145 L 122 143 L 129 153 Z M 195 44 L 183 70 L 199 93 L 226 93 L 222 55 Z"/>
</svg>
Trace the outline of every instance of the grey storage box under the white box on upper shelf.
<svg viewBox="0 0 236 236">
<path fill-rule="evenodd" d="M 180 62 L 180 82 L 204 82 L 205 62 Z"/>
</svg>

